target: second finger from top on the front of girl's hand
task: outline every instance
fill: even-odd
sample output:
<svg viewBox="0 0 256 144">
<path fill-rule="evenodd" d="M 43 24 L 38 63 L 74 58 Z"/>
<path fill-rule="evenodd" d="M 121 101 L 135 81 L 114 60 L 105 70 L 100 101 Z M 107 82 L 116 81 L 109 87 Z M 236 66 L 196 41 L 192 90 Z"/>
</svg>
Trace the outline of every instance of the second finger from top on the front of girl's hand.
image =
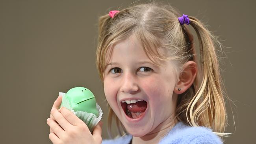
<svg viewBox="0 0 256 144">
<path fill-rule="evenodd" d="M 52 116 L 54 116 L 57 123 L 64 129 L 69 129 L 72 125 L 64 118 L 63 114 L 59 113 L 57 109 L 51 110 Z"/>
</svg>

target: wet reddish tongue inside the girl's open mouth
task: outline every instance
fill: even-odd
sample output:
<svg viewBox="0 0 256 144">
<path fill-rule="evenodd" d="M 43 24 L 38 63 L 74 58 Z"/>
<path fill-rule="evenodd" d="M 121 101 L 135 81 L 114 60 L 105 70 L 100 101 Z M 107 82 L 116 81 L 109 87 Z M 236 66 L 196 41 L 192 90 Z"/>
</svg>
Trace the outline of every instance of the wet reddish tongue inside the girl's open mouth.
<svg viewBox="0 0 256 144">
<path fill-rule="evenodd" d="M 136 103 L 130 103 L 127 105 L 127 109 L 132 113 L 132 115 L 139 116 L 141 112 L 146 111 L 147 109 L 147 102 L 138 101 Z"/>
</svg>

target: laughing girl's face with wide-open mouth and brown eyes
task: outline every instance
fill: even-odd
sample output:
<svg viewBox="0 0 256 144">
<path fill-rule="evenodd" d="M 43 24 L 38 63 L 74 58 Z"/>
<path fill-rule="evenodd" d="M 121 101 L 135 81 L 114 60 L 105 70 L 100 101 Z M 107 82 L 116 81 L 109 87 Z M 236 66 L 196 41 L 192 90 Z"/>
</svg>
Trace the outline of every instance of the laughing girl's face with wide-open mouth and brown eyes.
<svg viewBox="0 0 256 144">
<path fill-rule="evenodd" d="M 163 66 L 154 65 L 132 35 L 113 47 L 104 71 L 106 99 L 128 133 L 135 137 L 159 131 L 174 116 L 176 70 L 170 61 L 161 63 Z M 122 103 L 126 100 L 143 102 L 131 106 L 127 104 L 129 101 Z M 133 116 L 126 113 L 127 106 L 144 112 L 134 118 L 135 113 Z"/>
</svg>

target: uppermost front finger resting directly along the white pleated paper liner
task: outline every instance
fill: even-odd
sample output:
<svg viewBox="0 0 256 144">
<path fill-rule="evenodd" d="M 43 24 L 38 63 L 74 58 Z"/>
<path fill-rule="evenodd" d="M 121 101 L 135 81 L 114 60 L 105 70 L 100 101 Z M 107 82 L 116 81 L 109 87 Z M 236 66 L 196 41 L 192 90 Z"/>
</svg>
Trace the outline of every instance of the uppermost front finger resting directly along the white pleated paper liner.
<svg viewBox="0 0 256 144">
<path fill-rule="evenodd" d="M 78 125 L 84 124 L 84 122 L 82 120 L 80 120 L 80 118 L 78 118 L 74 113 L 72 113 L 65 107 L 61 108 L 61 114 L 73 126 L 78 126 Z"/>
</svg>

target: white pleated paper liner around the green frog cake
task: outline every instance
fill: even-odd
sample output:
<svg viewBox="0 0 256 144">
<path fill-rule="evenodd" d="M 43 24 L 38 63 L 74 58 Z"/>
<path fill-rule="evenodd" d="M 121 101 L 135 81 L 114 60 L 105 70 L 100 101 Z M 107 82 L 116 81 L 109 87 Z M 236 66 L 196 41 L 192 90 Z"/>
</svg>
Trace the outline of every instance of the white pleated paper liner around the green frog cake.
<svg viewBox="0 0 256 144">
<path fill-rule="evenodd" d="M 70 107 L 69 100 L 65 97 L 65 93 L 59 92 L 59 96 L 62 96 L 62 103 L 60 107 L 66 107 L 72 113 L 74 113 L 78 118 L 80 118 L 83 122 L 85 122 L 85 124 L 87 125 L 87 127 L 92 133 L 94 127 L 98 124 L 98 122 L 102 118 L 103 113 L 102 113 L 102 109 L 100 108 L 100 105 L 96 103 L 96 109 L 98 110 L 98 113 L 99 113 L 98 116 L 96 116 L 93 113 L 87 113 L 85 111 L 74 111 L 72 107 Z"/>
</svg>

